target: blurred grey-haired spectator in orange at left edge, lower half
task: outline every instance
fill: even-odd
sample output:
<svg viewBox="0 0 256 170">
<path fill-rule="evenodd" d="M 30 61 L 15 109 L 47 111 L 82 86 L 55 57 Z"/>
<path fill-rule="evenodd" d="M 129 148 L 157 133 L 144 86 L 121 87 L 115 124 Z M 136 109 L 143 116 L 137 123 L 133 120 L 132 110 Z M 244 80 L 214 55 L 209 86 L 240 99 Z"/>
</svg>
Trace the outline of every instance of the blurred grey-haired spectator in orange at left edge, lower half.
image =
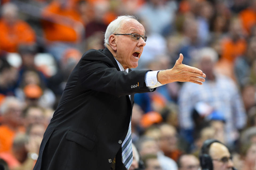
<svg viewBox="0 0 256 170">
<path fill-rule="evenodd" d="M 21 117 L 24 105 L 15 97 L 6 97 L 0 112 L 2 124 L 0 125 L 0 153 L 11 152 L 14 136 L 19 131 L 25 131 Z"/>
</svg>

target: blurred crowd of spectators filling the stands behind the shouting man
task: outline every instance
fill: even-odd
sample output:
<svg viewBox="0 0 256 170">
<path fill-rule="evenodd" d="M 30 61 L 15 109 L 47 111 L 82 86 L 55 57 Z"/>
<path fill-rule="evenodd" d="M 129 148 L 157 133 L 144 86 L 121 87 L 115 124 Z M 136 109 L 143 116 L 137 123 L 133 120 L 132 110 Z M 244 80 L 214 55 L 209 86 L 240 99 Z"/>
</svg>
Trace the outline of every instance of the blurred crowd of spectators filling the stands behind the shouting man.
<svg viewBox="0 0 256 170">
<path fill-rule="evenodd" d="M 107 25 L 135 15 L 148 36 L 136 69 L 183 64 L 203 85 L 135 94 L 130 169 L 198 169 L 206 139 L 256 170 L 256 0 L 0 0 L 0 164 L 33 169 L 67 78 Z M 137 148 L 137 149 L 136 149 Z M 1 168 L 1 167 L 0 167 Z"/>
</svg>

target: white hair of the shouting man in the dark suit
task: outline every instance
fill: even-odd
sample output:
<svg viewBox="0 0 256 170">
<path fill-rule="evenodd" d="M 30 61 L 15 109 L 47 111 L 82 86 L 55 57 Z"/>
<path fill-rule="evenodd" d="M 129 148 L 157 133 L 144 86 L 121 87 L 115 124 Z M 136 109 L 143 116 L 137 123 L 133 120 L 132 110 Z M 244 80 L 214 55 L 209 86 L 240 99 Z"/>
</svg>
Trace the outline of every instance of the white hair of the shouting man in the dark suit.
<svg viewBox="0 0 256 170">
<path fill-rule="evenodd" d="M 121 15 L 118 16 L 115 20 L 113 20 L 106 29 L 105 32 L 105 39 L 104 39 L 104 46 L 106 47 L 107 44 L 109 44 L 109 36 L 111 34 L 117 34 L 118 31 L 120 31 L 121 26 L 122 26 L 122 21 L 125 19 L 135 19 L 138 20 L 137 17 L 132 16 L 132 15 Z"/>
</svg>

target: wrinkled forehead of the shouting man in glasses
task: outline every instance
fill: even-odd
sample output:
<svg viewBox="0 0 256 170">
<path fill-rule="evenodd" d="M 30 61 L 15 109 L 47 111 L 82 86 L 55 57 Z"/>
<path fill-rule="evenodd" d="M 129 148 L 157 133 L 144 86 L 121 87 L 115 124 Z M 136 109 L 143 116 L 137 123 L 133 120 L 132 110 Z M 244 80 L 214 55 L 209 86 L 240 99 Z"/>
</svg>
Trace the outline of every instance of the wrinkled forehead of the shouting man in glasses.
<svg viewBox="0 0 256 170">
<path fill-rule="evenodd" d="M 122 21 L 121 26 L 122 33 L 137 33 L 140 35 L 145 34 L 145 29 L 141 23 L 135 19 L 125 19 Z"/>
</svg>

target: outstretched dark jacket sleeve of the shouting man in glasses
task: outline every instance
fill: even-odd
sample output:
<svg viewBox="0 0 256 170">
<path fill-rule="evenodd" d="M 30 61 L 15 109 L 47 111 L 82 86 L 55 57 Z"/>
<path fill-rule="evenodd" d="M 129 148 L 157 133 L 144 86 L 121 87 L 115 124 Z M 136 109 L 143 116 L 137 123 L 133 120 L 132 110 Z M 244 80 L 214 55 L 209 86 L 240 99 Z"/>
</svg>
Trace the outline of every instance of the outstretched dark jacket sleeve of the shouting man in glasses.
<svg viewBox="0 0 256 170">
<path fill-rule="evenodd" d="M 79 81 L 86 89 L 125 96 L 151 90 L 144 82 L 146 71 L 118 71 L 112 61 L 98 51 L 85 53 L 79 65 Z M 155 90 L 155 89 L 154 89 Z"/>
</svg>

